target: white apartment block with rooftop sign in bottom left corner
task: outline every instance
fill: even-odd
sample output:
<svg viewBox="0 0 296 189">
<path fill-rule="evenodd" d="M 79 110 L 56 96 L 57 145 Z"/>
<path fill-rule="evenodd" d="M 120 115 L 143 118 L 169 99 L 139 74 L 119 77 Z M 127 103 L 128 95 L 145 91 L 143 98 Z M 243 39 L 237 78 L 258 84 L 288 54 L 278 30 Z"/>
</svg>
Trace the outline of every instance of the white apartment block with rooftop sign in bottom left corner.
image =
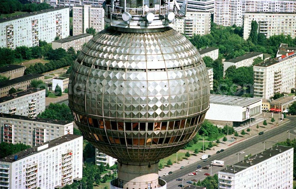
<svg viewBox="0 0 296 189">
<path fill-rule="evenodd" d="M 82 178 L 83 137 L 65 135 L 1 159 L 1 189 L 55 189 Z"/>
</svg>

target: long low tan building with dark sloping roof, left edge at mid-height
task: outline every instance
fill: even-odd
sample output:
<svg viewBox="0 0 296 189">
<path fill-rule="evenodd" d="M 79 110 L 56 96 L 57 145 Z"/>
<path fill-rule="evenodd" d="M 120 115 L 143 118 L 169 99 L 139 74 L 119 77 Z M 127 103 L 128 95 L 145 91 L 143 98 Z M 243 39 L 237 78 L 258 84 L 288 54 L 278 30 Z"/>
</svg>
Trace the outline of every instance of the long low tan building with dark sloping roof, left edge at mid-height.
<svg viewBox="0 0 296 189">
<path fill-rule="evenodd" d="M 33 80 L 44 80 L 44 75 L 28 74 L 28 75 L 14 78 L 12 80 L 6 80 L 6 81 L 0 82 L 0 93 L 1 93 L 0 97 L 8 95 L 8 91 L 12 87 L 15 89 L 22 89 L 22 90 L 28 89 L 30 82 Z"/>
</svg>

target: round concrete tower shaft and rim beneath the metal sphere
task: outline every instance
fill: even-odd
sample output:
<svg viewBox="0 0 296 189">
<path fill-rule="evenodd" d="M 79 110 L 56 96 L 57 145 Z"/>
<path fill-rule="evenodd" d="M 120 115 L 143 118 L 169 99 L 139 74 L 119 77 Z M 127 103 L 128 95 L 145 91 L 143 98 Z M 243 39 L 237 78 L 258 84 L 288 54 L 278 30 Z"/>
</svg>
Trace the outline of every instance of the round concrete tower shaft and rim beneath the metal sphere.
<svg viewBox="0 0 296 189">
<path fill-rule="evenodd" d="M 110 189 L 166 189 L 166 182 L 158 178 L 158 162 L 118 161 L 118 178 L 112 180 Z"/>
</svg>

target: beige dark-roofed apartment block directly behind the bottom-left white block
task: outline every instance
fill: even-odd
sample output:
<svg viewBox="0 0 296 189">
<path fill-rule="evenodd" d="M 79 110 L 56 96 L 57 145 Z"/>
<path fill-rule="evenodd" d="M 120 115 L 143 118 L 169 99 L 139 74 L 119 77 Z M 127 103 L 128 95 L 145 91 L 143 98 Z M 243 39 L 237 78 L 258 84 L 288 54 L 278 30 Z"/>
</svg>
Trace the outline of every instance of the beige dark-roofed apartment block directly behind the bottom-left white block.
<svg viewBox="0 0 296 189">
<path fill-rule="evenodd" d="M 63 135 L 73 134 L 73 122 L 39 117 L 32 119 L 3 113 L 0 115 L 0 143 L 36 146 Z"/>
</svg>

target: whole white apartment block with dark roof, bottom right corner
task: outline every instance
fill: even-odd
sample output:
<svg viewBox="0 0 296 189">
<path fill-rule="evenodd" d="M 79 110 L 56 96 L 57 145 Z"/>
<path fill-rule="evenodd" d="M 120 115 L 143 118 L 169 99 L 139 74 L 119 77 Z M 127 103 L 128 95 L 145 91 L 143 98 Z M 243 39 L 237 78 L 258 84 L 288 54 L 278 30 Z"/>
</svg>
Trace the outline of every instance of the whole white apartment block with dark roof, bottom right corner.
<svg viewBox="0 0 296 189">
<path fill-rule="evenodd" d="M 218 189 L 292 189 L 293 151 L 274 146 L 219 171 Z"/>
</svg>

